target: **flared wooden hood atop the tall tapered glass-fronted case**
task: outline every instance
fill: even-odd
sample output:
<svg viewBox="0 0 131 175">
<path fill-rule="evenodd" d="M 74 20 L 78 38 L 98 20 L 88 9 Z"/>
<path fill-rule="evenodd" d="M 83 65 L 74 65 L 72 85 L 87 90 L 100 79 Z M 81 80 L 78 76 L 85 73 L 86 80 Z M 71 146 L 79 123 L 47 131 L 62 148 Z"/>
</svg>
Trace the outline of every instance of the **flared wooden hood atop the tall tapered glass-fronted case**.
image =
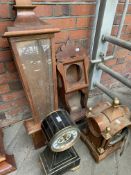
<svg viewBox="0 0 131 175">
<path fill-rule="evenodd" d="M 17 11 L 16 19 L 13 26 L 8 27 L 4 37 L 56 33 L 60 31 L 59 28 L 55 28 L 40 20 L 34 12 L 35 7 L 35 5 L 32 5 L 31 0 L 16 0 L 16 5 L 14 5 Z"/>
</svg>

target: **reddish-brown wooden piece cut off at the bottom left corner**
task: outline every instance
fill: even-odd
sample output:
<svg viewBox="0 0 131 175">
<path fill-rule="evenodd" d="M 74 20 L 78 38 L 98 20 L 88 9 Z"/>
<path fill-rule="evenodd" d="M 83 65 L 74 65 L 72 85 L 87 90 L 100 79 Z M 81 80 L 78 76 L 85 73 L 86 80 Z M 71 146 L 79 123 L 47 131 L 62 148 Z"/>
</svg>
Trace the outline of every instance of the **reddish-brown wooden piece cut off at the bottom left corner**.
<svg viewBox="0 0 131 175">
<path fill-rule="evenodd" d="M 0 175 L 5 175 L 15 170 L 14 156 L 6 154 L 3 143 L 3 132 L 0 128 Z"/>
</svg>

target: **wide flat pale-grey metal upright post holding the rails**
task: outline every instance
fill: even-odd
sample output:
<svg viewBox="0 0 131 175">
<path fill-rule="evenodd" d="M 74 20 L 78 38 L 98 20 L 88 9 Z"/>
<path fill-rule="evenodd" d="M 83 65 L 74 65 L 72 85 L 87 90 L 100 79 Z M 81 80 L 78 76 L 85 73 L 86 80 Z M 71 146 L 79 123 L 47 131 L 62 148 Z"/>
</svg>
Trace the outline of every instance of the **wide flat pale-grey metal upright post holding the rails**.
<svg viewBox="0 0 131 175">
<path fill-rule="evenodd" d="M 104 57 L 106 56 L 109 43 L 102 42 L 102 36 L 111 35 L 117 4 L 118 0 L 100 0 L 91 62 L 99 62 L 99 60 L 104 60 L 101 53 L 104 54 Z M 90 90 L 95 88 L 94 82 L 100 82 L 101 74 L 102 71 L 97 69 L 96 64 L 91 64 Z"/>
</svg>

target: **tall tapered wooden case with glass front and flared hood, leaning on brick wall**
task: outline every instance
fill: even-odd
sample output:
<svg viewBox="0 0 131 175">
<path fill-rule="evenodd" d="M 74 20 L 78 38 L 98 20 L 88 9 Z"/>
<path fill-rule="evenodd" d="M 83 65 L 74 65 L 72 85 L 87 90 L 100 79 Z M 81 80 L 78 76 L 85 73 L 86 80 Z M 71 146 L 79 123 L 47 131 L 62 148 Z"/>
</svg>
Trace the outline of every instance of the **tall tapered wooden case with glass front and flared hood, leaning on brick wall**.
<svg viewBox="0 0 131 175">
<path fill-rule="evenodd" d="M 17 17 L 8 27 L 8 37 L 18 68 L 32 118 L 25 121 L 36 148 L 45 144 L 41 133 L 41 120 L 58 108 L 54 33 L 58 28 L 39 20 L 31 0 L 16 0 Z"/>
</svg>

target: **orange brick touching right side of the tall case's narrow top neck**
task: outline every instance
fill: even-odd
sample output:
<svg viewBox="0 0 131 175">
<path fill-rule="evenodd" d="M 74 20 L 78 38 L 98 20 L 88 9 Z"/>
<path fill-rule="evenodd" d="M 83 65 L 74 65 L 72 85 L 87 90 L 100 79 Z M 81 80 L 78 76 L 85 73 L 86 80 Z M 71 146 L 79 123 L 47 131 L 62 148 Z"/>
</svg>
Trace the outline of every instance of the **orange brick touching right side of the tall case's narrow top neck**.
<svg viewBox="0 0 131 175">
<path fill-rule="evenodd" d="M 34 11 L 38 17 L 52 16 L 52 5 L 37 5 Z"/>
</svg>

